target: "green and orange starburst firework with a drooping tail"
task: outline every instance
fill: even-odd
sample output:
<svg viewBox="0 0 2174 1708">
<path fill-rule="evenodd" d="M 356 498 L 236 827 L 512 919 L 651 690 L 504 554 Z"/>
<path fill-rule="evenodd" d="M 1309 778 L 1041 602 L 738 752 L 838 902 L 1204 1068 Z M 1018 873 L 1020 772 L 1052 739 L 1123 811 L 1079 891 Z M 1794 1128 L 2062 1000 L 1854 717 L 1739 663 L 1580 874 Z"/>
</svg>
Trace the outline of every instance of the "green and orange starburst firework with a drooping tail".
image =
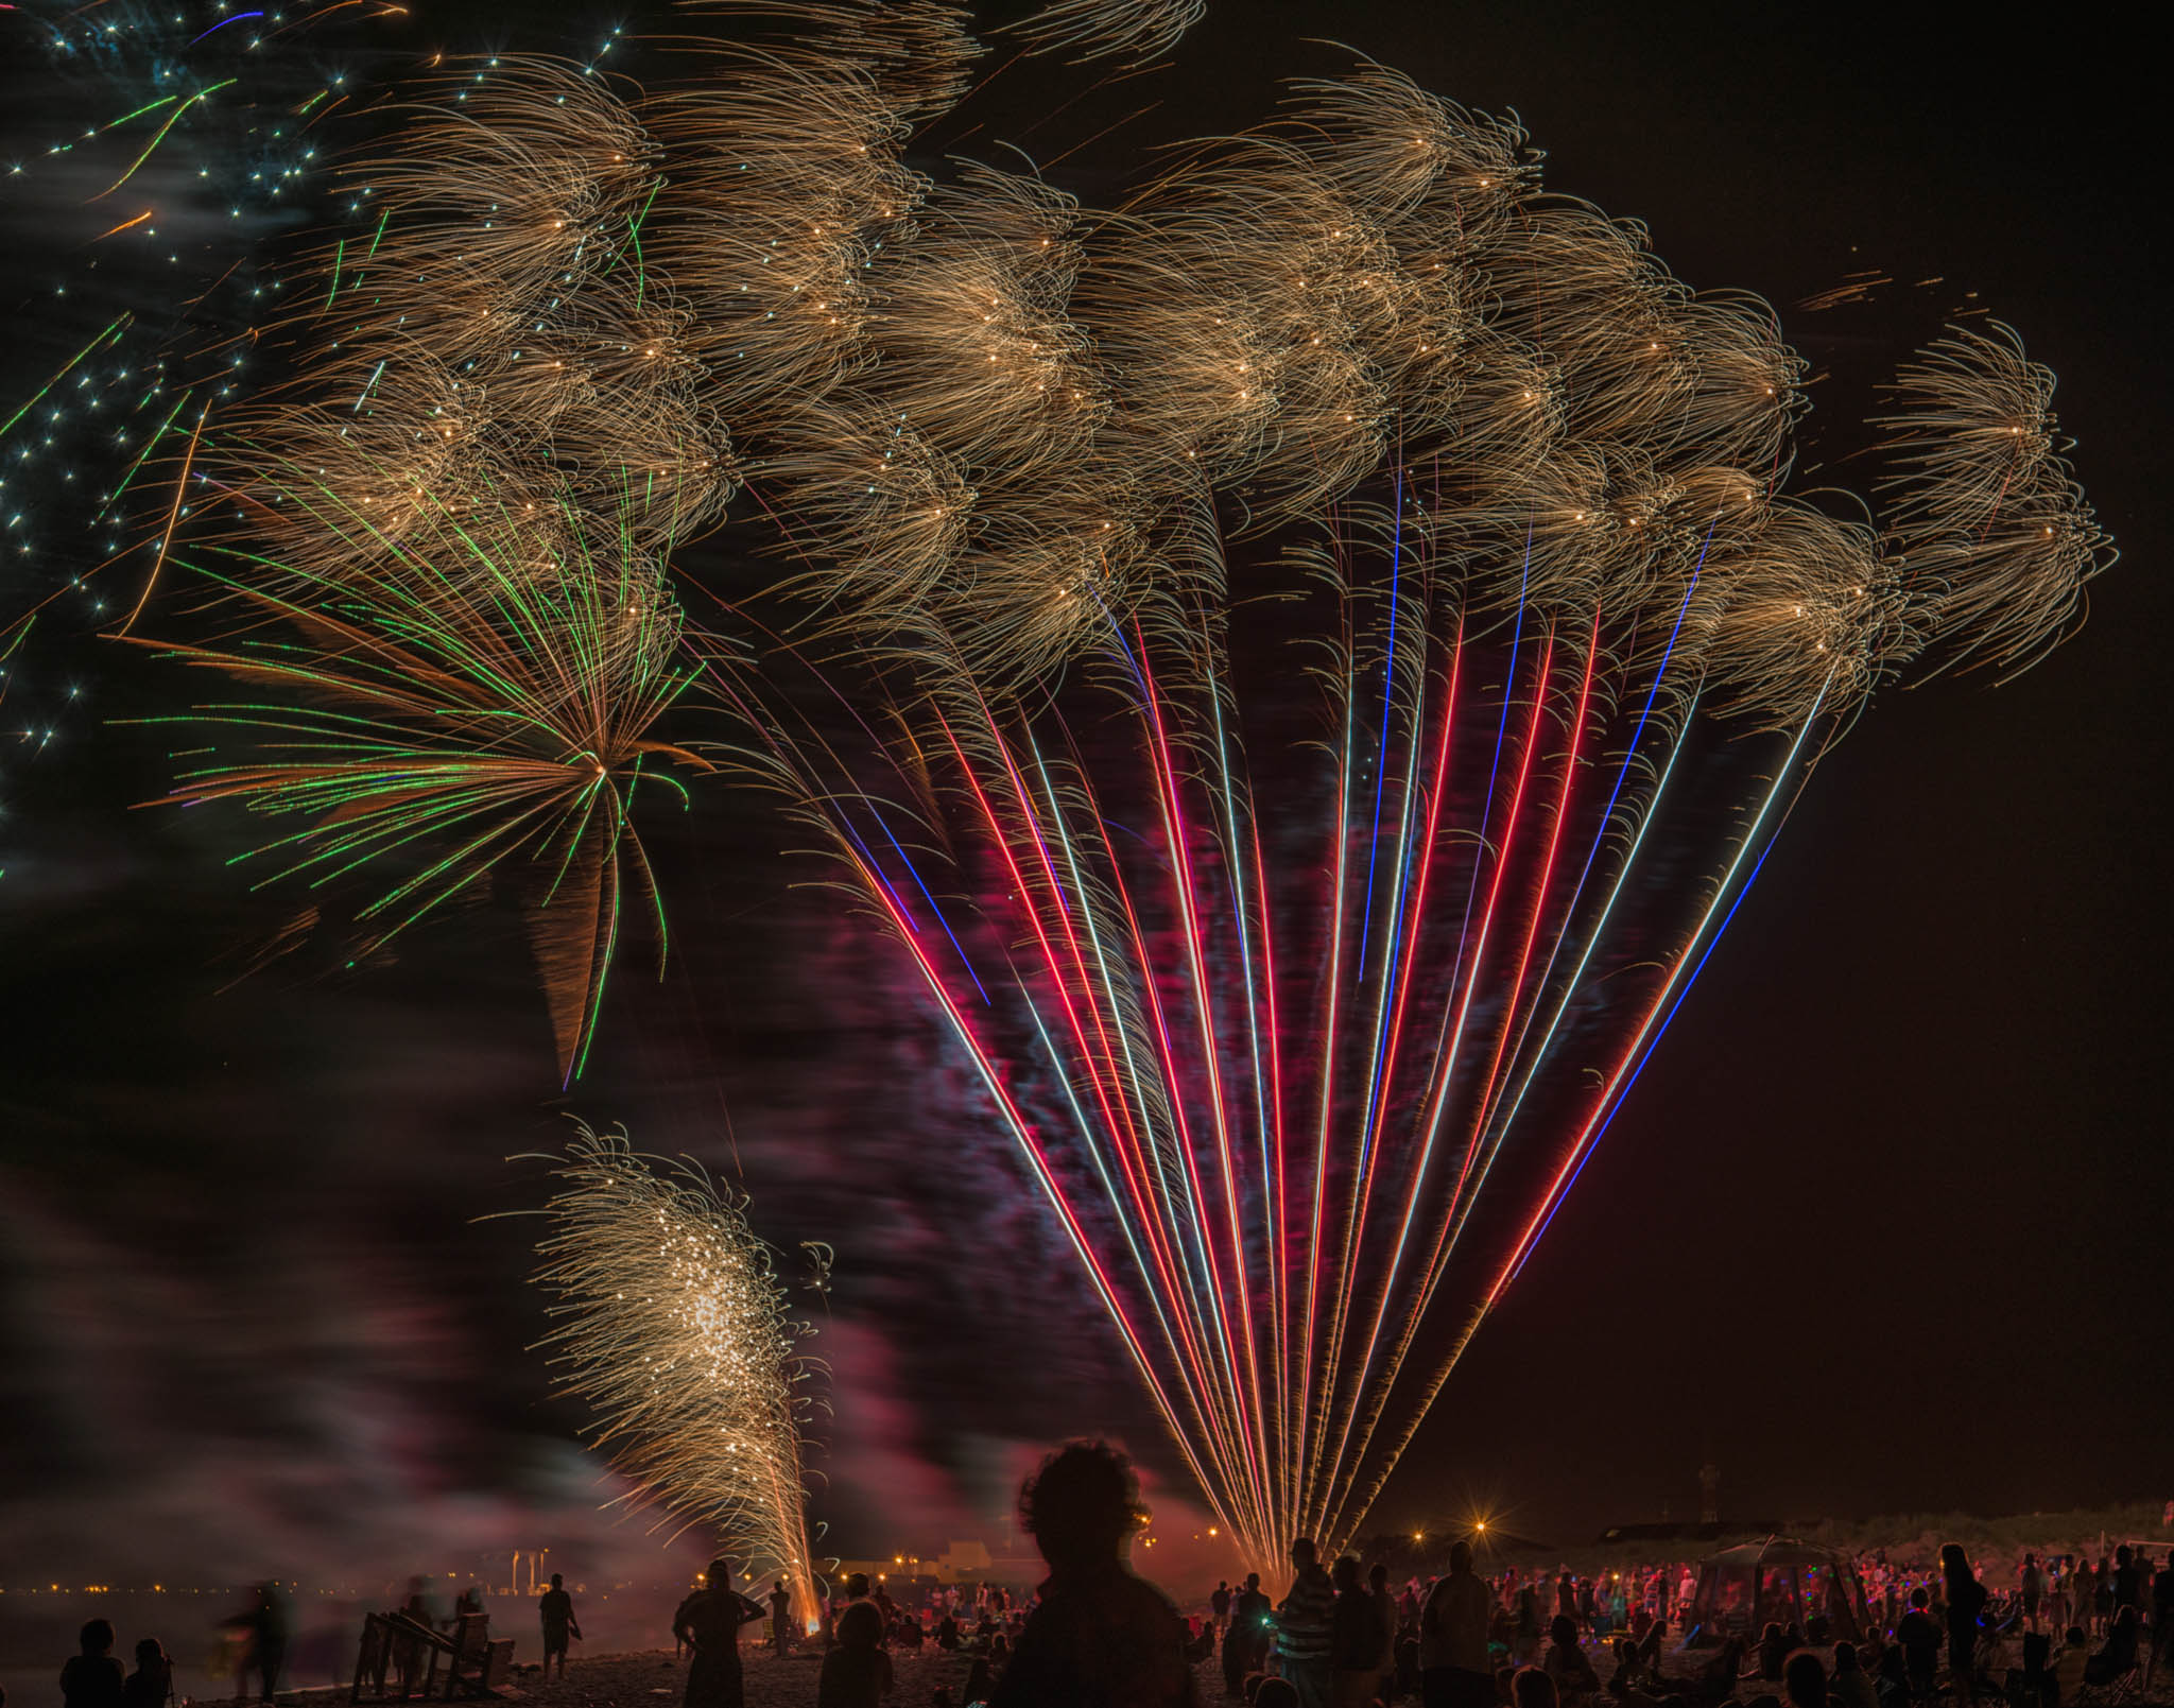
<svg viewBox="0 0 2174 1708">
<path fill-rule="evenodd" d="M 635 798 L 644 782 L 676 793 L 674 767 L 707 769 L 650 732 L 694 680 L 670 587 L 626 535 L 591 537 L 574 511 L 437 500 L 404 504 L 389 530 L 293 467 L 280 498 L 300 515 L 276 530 L 322 535 L 339 572 L 220 541 L 183 554 L 226 591 L 241 635 L 172 654 L 270 698 L 174 719 L 211 737 L 176 795 L 298 819 L 248 856 L 272 867 L 265 882 L 389 871 L 359 908 L 359 954 L 517 869 L 572 1076 L 626 891 L 654 902 Z M 235 737 L 241 756 L 222 752 Z"/>
</svg>

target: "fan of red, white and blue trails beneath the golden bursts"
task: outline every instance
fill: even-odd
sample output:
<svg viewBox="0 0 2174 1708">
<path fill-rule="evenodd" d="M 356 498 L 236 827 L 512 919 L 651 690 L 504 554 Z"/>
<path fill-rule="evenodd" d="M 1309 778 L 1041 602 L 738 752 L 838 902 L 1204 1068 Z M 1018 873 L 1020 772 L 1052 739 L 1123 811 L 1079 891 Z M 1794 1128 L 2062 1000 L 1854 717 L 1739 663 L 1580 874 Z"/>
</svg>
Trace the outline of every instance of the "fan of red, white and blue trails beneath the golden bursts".
<svg viewBox="0 0 2174 1708">
<path fill-rule="evenodd" d="M 1174 600 L 1054 698 L 944 676 L 889 782 L 770 724 L 1263 1567 L 1357 1530 L 1817 752 L 1698 734 L 1698 572 L 1665 639 L 1461 585 L 1341 537 L 1302 674 Z"/>
</svg>

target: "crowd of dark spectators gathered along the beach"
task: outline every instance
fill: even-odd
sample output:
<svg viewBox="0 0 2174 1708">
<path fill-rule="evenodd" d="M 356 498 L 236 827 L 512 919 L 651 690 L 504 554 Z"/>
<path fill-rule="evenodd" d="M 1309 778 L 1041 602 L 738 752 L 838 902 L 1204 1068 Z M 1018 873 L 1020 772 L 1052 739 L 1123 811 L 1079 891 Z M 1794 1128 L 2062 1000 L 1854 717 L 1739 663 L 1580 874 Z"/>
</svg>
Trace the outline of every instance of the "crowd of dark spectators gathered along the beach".
<svg viewBox="0 0 2174 1708">
<path fill-rule="evenodd" d="M 815 1708 L 883 1708 L 896 1695 L 894 1656 L 924 1647 L 967 1662 L 957 1691 L 939 1686 L 928 1708 L 1200 1708 L 1213 1695 L 1202 1673 L 1248 1708 L 1933 1708 L 1941 1697 L 1948 1708 L 2078 1708 L 2141 1697 L 2174 1652 L 2174 1554 L 2154 1562 L 2131 1545 L 2098 1560 L 2024 1554 L 1994 1582 L 1952 1543 L 1937 1567 L 1876 1554 L 1850 1571 L 1804 1569 L 1776 1604 L 1757 1573 L 1717 1595 L 1681 1562 L 1480 1575 L 1465 1541 L 1439 1578 L 1391 1586 L 1385 1565 L 1322 1560 L 1300 1539 L 1280 1599 L 1248 1573 L 1183 1615 L 1130 1569 L 1141 1508 L 1120 1452 L 1061 1449 L 1026 1482 L 1020 1510 L 1048 1565 L 1026 1597 L 948 1586 L 902 1606 L 880 1580 L 837 1584 L 813 1632 Z M 796 1645 L 789 1582 L 763 1602 L 737 1584 L 733 1560 L 713 1560 L 672 1617 L 689 1656 L 685 1708 L 744 1708 L 750 1638 L 778 1654 Z M 411 1591 L 402 1612 L 430 1619 L 420 1584 Z M 548 1682 L 554 1660 L 565 1675 L 580 1623 L 559 1575 L 537 1606 Z M 1776 1610 L 1785 1617 L 1763 1617 Z M 252 1675 L 272 1701 L 285 1656 L 274 1586 L 226 1623 L 241 1638 L 237 1701 Z M 137 1643 L 135 1671 L 113 1647 L 109 1621 L 83 1628 L 83 1652 L 61 1673 L 63 1708 L 170 1701 L 159 1638 Z"/>
</svg>

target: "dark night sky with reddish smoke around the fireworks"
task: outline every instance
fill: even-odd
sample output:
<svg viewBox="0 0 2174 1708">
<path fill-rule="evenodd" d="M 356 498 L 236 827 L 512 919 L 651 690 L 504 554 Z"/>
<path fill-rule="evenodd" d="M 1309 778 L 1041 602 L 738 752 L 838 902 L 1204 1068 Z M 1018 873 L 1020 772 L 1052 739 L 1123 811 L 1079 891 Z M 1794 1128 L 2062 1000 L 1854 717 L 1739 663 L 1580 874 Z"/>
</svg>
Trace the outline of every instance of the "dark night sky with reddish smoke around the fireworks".
<svg viewBox="0 0 2174 1708">
<path fill-rule="evenodd" d="M 2124 548 L 2048 663 L 1889 693 L 1820 767 L 1383 1515 L 1485 1499 L 1576 1539 L 1687 1515 L 1709 1456 L 1737 1512 L 2174 1493 L 2157 52 L 2083 9 L 2028 33 L 1891 4 L 1211 11 L 1141 85 L 1165 106 L 1139 139 L 1263 113 L 1274 78 L 1335 67 L 1304 41 L 1333 35 L 1515 109 L 1550 187 L 1646 219 L 1698 287 L 1765 293 L 1815 365 L 1787 304 L 1844 274 L 1978 291 L 2059 372 Z M 417 13 L 528 46 L 513 11 Z M 987 135 L 1024 120 L 998 104 Z M 172 702 L 139 658 L 85 656 L 104 713 Z M 485 1541 L 509 1510 L 572 1523 L 574 1417 L 520 1349 L 526 1234 L 467 1221 L 535 1202 L 500 1158 L 565 1108 L 726 1169 L 730 1121 L 770 1232 L 839 1247 L 848 1552 L 987 1508 L 1052 1434 L 1152 1439 L 1094 1334 L 989 1380 L 1052 1315 L 1094 1323 L 1085 1289 L 880 952 L 787 889 L 811 869 L 759 804 L 665 837 L 678 958 L 620 984 L 561 1100 L 491 910 L 389 969 L 226 989 L 283 906 L 222 867 L 230 824 L 126 811 L 154 750 L 87 724 L 0 752 L 0 1558 L 117 1575 L 87 1534 L 128 1502 L 159 1517 L 124 1560 L 235 1569 L 393 1554 L 396 1510 Z"/>
</svg>

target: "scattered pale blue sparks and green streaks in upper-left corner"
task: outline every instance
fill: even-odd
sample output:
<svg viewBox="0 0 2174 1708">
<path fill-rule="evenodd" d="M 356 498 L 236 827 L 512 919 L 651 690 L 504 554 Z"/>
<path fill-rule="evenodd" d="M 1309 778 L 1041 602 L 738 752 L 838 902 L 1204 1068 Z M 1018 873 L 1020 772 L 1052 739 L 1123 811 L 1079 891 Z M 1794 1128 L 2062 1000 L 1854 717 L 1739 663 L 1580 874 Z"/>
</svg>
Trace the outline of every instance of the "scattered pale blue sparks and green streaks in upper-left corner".
<svg viewBox="0 0 2174 1708">
<path fill-rule="evenodd" d="M 170 478 L 207 411 L 252 378 L 280 302 L 270 239 L 324 183 L 324 120 L 374 80 L 391 0 L 278 17 L 178 0 L 24 0 L 0 13 L 17 152 L 0 230 L 26 313 L 0 352 L 0 630 L 37 615 L 11 734 L 67 739 L 96 695 L 91 632 L 157 574 Z M 35 306 L 33 306 L 35 304 Z"/>
</svg>

